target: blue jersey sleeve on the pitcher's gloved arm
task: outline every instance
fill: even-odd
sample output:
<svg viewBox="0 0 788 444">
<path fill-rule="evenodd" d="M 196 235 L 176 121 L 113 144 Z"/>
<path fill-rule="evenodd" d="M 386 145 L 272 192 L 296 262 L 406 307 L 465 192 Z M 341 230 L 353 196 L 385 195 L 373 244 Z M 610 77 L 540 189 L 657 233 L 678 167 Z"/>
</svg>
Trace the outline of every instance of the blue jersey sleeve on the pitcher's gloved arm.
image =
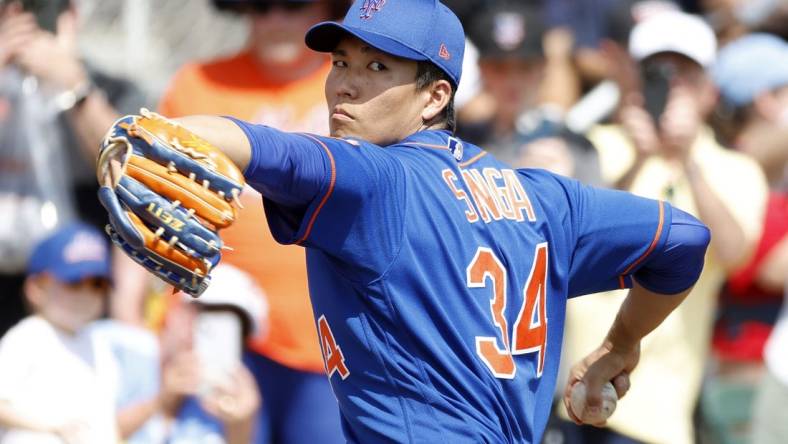
<svg viewBox="0 0 788 444">
<path fill-rule="evenodd" d="M 346 270 L 363 269 L 365 277 L 351 279 L 386 269 L 401 242 L 405 211 L 405 173 L 395 156 L 368 143 L 232 120 L 249 138 L 244 175 L 263 195 L 278 242 L 319 249 Z"/>
</svg>

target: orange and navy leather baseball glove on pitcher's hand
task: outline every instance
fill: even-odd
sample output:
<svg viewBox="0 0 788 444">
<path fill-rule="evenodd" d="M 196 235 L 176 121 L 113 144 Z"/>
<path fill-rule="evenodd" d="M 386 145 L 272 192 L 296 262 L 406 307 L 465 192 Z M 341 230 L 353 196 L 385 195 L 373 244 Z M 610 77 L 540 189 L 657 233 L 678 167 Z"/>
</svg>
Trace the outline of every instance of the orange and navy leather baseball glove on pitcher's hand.
<svg viewBox="0 0 788 444">
<path fill-rule="evenodd" d="M 110 128 L 97 164 L 107 233 L 137 263 L 199 296 L 235 221 L 243 174 L 216 147 L 146 109 Z"/>
</svg>

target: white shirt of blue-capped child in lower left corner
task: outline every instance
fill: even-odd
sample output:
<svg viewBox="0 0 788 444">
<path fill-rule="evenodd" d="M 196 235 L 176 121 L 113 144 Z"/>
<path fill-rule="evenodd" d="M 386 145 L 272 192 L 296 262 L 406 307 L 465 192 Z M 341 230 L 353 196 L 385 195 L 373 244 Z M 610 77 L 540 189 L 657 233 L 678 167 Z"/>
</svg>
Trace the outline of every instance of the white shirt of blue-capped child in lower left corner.
<svg viewBox="0 0 788 444">
<path fill-rule="evenodd" d="M 38 316 L 0 340 L 0 400 L 50 424 L 79 421 L 85 444 L 118 442 L 117 367 L 109 344 L 92 329 L 75 335 Z M 0 444 L 60 444 L 52 434 L 0 428 Z"/>
</svg>

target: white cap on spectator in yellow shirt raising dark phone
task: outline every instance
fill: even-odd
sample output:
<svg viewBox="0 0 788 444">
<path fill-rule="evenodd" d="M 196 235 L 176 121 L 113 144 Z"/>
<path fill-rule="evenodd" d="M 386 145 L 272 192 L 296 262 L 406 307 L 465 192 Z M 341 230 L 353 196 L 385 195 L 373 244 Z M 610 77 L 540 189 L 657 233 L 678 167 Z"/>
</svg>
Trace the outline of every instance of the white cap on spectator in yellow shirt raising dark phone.
<svg viewBox="0 0 788 444">
<path fill-rule="evenodd" d="M 629 34 L 629 53 L 641 61 L 660 52 L 675 52 L 706 68 L 714 62 L 717 38 L 700 17 L 680 11 L 650 15 Z"/>
</svg>

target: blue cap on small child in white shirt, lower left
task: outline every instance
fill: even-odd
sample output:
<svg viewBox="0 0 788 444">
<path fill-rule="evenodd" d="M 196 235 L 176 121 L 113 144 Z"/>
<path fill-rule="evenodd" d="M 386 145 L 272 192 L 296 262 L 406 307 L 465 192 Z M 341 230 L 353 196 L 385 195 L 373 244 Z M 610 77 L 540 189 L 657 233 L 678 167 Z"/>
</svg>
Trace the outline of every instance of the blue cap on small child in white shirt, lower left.
<svg viewBox="0 0 788 444">
<path fill-rule="evenodd" d="M 110 279 L 109 260 L 101 232 L 75 223 L 54 231 L 33 248 L 27 272 L 50 273 L 68 283 L 91 277 Z"/>
</svg>

